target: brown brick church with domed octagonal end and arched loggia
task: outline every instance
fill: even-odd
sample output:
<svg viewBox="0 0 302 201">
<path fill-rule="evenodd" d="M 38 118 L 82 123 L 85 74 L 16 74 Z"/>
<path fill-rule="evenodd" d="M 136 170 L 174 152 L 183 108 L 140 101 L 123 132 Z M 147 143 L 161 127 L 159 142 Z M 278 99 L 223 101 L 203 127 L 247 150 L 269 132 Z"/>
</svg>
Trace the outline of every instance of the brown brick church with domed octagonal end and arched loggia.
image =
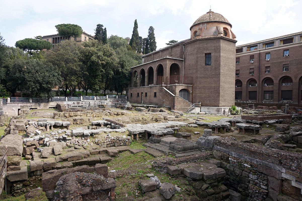
<svg viewBox="0 0 302 201">
<path fill-rule="evenodd" d="M 183 111 L 201 102 L 201 111 L 227 113 L 235 97 L 231 27 L 210 10 L 193 23 L 190 39 L 143 55 L 143 64 L 132 67 L 128 101 Z"/>
</svg>

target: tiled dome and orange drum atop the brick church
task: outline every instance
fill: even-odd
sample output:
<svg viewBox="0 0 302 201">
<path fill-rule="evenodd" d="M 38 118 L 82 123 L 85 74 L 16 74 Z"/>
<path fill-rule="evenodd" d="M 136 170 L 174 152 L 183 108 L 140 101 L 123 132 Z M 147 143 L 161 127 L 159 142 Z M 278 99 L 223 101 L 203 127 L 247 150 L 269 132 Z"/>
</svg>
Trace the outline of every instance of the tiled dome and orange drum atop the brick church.
<svg viewBox="0 0 302 201">
<path fill-rule="evenodd" d="M 205 36 L 225 36 L 236 39 L 232 24 L 223 15 L 209 11 L 201 15 L 190 27 L 191 40 Z"/>
</svg>

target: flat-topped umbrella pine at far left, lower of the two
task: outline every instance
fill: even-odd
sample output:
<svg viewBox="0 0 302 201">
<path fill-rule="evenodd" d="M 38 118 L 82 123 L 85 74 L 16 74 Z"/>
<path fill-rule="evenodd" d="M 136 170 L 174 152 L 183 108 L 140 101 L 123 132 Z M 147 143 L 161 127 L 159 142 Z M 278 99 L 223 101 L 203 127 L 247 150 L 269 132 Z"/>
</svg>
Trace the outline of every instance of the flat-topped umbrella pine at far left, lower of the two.
<svg viewBox="0 0 302 201">
<path fill-rule="evenodd" d="M 26 51 L 28 55 L 32 55 L 33 52 L 38 53 L 38 51 L 42 49 L 49 50 L 53 47 L 50 42 L 47 42 L 45 40 L 33 39 L 33 38 L 18 40 L 15 46 Z"/>
</svg>

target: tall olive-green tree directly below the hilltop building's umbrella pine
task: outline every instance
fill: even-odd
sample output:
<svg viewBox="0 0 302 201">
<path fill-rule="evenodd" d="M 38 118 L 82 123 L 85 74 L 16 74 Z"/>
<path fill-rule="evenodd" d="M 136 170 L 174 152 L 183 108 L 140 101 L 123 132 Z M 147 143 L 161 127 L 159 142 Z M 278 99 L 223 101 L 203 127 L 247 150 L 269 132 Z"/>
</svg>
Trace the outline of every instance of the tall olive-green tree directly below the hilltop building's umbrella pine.
<svg viewBox="0 0 302 201">
<path fill-rule="evenodd" d="M 73 96 L 81 79 L 81 62 L 79 61 L 81 49 L 81 44 L 73 40 L 65 40 L 60 42 L 59 46 L 55 46 L 52 51 L 47 52 L 47 61 L 57 66 L 61 74 L 62 82 L 59 88 L 64 91 L 65 96 L 67 96 L 67 90 L 70 96 Z"/>
</svg>

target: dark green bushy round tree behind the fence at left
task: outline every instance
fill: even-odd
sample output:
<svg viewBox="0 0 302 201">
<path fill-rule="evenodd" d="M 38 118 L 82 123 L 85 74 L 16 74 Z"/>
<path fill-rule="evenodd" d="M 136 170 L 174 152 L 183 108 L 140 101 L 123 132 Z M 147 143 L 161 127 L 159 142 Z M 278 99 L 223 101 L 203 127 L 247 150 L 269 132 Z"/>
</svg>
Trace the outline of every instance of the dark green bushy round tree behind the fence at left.
<svg viewBox="0 0 302 201">
<path fill-rule="evenodd" d="M 55 96 L 52 89 L 61 81 L 60 72 L 56 67 L 38 59 L 25 61 L 22 78 L 21 90 L 28 90 L 31 97 L 38 98 Z"/>
</svg>

